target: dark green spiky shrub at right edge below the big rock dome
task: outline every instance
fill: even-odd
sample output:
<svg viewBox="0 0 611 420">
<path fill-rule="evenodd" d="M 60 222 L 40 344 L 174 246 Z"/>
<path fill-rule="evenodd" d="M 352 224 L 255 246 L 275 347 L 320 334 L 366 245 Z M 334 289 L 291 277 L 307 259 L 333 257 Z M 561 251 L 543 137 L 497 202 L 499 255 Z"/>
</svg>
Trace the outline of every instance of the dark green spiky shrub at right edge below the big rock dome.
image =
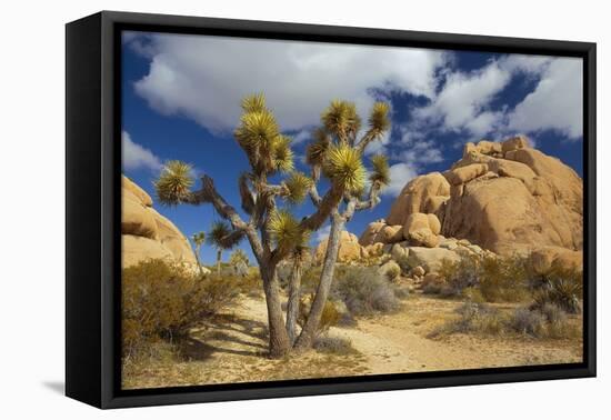
<svg viewBox="0 0 611 420">
<path fill-rule="evenodd" d="M 583 299 L 583 277 L 577 270 L 557 269 L 544 276 L 535 288 L 533 308 L 540 309 L 552 303 L 569 313 L 581 310 Z"/>
</svg>

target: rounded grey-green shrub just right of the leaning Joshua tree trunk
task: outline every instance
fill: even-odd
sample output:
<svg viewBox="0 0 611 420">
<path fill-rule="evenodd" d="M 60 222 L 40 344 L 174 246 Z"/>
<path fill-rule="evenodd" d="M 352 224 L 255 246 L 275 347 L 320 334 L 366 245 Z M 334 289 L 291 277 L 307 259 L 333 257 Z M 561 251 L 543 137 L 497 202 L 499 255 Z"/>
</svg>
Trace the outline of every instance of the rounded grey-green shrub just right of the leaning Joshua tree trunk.
<svg viewBox="0 0 611 420">
<path fill-rule="evenodd" d="M 331 294 L 353 316 L 391 312 L 400 307 L 397 288 L 375 268 L 342 267 L 335 271 Z"/>
</svg>

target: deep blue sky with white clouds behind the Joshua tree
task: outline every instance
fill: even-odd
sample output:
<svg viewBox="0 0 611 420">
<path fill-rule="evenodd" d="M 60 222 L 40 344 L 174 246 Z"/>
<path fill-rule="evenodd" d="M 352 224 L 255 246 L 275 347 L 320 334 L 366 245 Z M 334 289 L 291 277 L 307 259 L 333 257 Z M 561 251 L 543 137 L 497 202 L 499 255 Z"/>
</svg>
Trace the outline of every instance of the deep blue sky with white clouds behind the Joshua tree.
<svg viewBox="0 0 611 420">
<path fill-rule="evenodd" d="M 355 102 L 364 118 L 375 100 L 391 103 L 391 131 L 365 152 L 389 157 L 392 183 L 349 222 L 357 236 L 410 179 L 448 169 L 468 141 L 523 133 L 582 174 L 581 59 L 143 32 L 123 33 L 122 58 L 123 173 L 153 201 L 162 163 L 179 159 L 239 208 L 248 160 L 231 133 L 240 99 L 254 92 L 266 93 L 304 171 L 300 158 L 332 99 Z M 219 219 L 210 206 L 154 206 L 186 236 Z M 214 251 L 204 246 L 201 257 L 210 263 Z"/>
</svg>

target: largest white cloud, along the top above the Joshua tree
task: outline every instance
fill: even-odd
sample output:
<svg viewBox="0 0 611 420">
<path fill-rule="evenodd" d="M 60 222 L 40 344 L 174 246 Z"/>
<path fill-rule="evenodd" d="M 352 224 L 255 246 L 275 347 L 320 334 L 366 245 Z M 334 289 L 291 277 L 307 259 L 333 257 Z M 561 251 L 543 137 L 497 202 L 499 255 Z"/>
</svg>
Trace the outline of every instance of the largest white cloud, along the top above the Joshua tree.
<svg viewBox="0 0 611 420">
<path fill-rule="evenodd" d="M 354 101 L 367 114 L 371 88 L 431 98 L 435 72 L 449 60 L 424 49 L 201 36 L 154 34 L 146 46 L 152 58 L 136 91 L 159 112 L 213 131 L 233 128 L 241 98 L 258 91 L 284 130 L 318 124 L 333 98 Z"/>
</svg>

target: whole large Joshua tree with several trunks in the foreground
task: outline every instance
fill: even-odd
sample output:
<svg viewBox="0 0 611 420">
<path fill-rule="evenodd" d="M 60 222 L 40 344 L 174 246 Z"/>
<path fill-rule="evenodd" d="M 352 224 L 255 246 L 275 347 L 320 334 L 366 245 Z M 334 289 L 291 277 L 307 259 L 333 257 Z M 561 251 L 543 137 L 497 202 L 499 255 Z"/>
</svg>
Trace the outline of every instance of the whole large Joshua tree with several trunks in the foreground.
<svg viewBox="0 0 611 420">
<path fill-rule="evenodd" d="M 214 234 L 223 249 L 231 248 L 241 239 L 248 239 L 263 282 L 268 307 L 269 350 L 271 357 L 282 357 L 292 349 L 307 349 L 312 346 L 322 310 L 331 287 L 334 264 L 338 257 L 340 233 L 357 210 L 372 208 L 380 201 L 379 193 L 388 183 L 389 169 L 384 157 L 373 157 L 369 176 L 362 162 L 364 149 L 372 141 L 382 138 L 389 129 L 389 107 L 377 102 L 371 109 L 368 128 L 361 132 L 361 120 L 351 102 L 334 100 L 321 116 L 322 127 L 313 136 L 308 148 L 308 164 L 311 174 L 296 171 L 291 140 L 280 132 L 273 113 L 267 108 L 262 94 L 242 100 L 242 117 L 234 131 L 234 138 L 248 157 L 250 169 L 238 178 L 241 207 L 248 220 L 231 207 L 217 191 L 209 176 L 201 177 L 201 187 L 192 190 L 191 166 L 170 161 L 156 181 L 158 199 L 161 203 L 200 206 L 212 204 L 229 224 Z M 272 183 L 273 176 L 283 176 L 279 183 Z M 329 187 L 320 194 L 317 184 L 320 178 L 329 181 Z M 367 193 L 367 198 L 363 196 Z M 297 204 L 310 197 L 314 211 L 300 220 L 287 209 L 279 209 L 280 198 L 287 204 Z M 290 208 L 289 206 L 288 208 Z M 324 256 L 321 281 L 318 286 L 308 320 L 299 337 L 293 322 L 293 312 L 299 304 L 299 283 L 303 247 L 310 232 L 315 231 L 331 219 L 331 233 Z M 209 238 L 212 232 L 209 233 Z M 300 251 L 301 249 L 301 251 Z M 298 257 L 296 259 L 296 257 Z M 280 304 L 278 264 L 293 260 L 291 286 L 289 287 L 289 316 L 284 323 Z"/>
</svg>

